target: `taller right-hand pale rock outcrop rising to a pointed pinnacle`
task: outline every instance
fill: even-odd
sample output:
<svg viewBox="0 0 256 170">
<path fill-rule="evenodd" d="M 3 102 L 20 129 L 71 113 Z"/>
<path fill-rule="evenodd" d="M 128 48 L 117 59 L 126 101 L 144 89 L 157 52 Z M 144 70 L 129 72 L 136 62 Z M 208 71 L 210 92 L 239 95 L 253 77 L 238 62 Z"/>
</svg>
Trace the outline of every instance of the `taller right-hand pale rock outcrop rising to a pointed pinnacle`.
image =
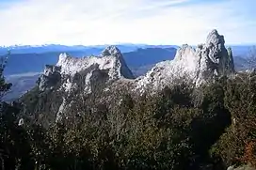
<svg viewBox="0 0 256 170">
<path fill-rule="evenodd" d="M 177 83 L 180 79 L 194 85 L 201 85 L 221 75 L 234 72 L 232 50 L 225 48 L 224 37 L 213 30 L 196 49 L 183 45 L 172 61 L 156 64 L 145 77 L 137 80 L 136 89 L 161 89 Z"/>
</svg>

